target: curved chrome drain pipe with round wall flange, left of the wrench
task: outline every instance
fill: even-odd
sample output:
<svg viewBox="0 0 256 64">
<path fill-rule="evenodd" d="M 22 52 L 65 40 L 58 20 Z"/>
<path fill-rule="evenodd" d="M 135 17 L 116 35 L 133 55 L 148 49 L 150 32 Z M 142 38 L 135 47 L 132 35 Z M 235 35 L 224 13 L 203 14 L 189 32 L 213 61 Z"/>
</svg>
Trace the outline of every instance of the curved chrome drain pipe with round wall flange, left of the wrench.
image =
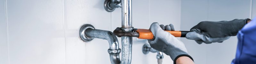
<svg viewBox="0 0 256 64">
<path fill-rule="evenodd" d="M 108 40 L 108 43 L 109 43 L 108 53 L 109 53 L 111 64 L 121 63 L 120 57 L 119 57 L 119 53 L 121 52 L 121 49 L 119 48 L 119 43 L 116 36 L 112 32 L 95 29 L 92 25 L 85 24 L 80 28 L 79 35 L 80 35 L 80 38 L 85 42 L 91 41 L 93 38 Z"/>
</svg>

